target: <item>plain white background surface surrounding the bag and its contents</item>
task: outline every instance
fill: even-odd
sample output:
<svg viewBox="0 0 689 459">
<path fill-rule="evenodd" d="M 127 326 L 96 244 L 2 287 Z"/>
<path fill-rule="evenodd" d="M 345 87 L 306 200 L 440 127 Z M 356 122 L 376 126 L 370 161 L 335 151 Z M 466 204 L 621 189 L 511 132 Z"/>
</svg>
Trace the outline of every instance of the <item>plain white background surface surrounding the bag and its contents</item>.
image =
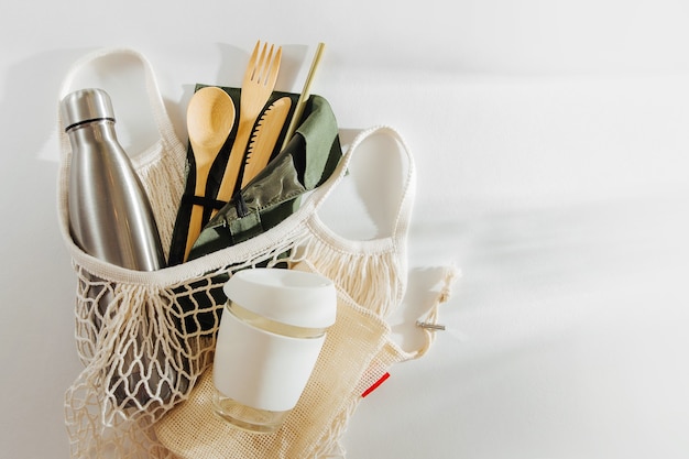
<svg viewBox="0 0 689 459">
<path fill-rule="evenodd" d="M 285 90 L 305 47 L 327 43 L 314 91 L 342 138 L 387 123 L 414 150 L 412 266 L 463 272 L 448 331 L 361 404 L 350 458 L 689 456 L 688 3 L 447 4 L 2 8 L 3 457 L 68 456 L 74 275 L 45 147 L 62 76 L 87 50 L 136 47 L 185 138 L 194 83 L 237 85 L 256 39 L 294 44 Z"/>
</svg>

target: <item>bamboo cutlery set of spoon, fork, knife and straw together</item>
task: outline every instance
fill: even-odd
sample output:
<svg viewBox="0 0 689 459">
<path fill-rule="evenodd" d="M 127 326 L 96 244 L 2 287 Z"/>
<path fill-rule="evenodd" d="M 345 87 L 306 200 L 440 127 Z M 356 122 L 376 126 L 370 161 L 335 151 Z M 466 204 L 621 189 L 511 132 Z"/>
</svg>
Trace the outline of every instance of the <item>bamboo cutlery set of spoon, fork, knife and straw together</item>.
<svg viewBox="0 0 689 459">
<path fill-rule="evenodd" d="M 256 43 L 249 59 L 238 107 L 225 89 L 216 86 L 200 87 L 192 97 L 187 107 L 187 131 L 193 152 L 187 190 L 194 198 L 183 261 L 188 259 L 194 242 L 218 209 L 251 183 L 273 153 L 282 150 L 294 134 L 324 44 L 318 44 L 296 103 L 287 95 L 274 96 L 282 47 L 275 50 L 267 43 L 261 46 L 261 42 Z M 265 108 L 271 99 L 272 103 Z M 285 131 L 288 119 L 291 122 Z M 229 156 L 222 157 L 219 153 L 232 132 L 236 134 Z"/>
</svg>

